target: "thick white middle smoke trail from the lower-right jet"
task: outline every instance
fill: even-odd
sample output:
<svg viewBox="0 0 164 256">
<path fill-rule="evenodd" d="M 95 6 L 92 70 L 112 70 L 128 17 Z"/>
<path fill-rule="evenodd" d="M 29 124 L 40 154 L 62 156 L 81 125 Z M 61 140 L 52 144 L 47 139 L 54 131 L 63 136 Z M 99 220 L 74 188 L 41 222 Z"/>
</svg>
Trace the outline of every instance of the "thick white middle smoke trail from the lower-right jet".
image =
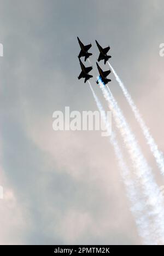
<svg viewBox="0 0 164 256">
<path fill-rule="evenodd" d="M 153 219 L 151 229 L 153 229 L 155 235 L 155 241 L 158 244 L 164 243 L 164 213 L 163 213 L 163 202 L 160 195 L 160 189 L 154 181 L 154 176 L 151 172 L 147 161 L 145 160 L 136 138 L 131 132 L 118 103 L 115 101 L 112 93 L 108 92 L 105 86 L 99 79 L 99 84 L 102 89 L 103 95 L 108 101 L 109 108 L 113 112 L 116 126 L 118 127 L 122 138 L 124 139 L 125 146 L 130 154 L 132 164 L 135 170 L 137 181 L 142 185 L 142 190 L 145 199 L 147 200 L 146 205 L 149 208 L 149 216 Z"/>
</svg>

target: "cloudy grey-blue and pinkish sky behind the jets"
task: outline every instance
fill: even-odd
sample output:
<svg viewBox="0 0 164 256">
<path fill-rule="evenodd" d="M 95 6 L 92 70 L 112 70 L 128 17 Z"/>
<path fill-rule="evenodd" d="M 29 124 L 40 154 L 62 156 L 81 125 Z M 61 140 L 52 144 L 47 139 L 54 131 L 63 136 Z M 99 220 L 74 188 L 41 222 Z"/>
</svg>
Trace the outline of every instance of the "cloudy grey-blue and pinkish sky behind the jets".
<svg viewBox="0 0 164 256">
<path fill-rule="evenodd" d="M 92 43 L 96 75 L 97 39 L 110 45 L 110 63 L 164 152 L 159 55 L 164 2 L 0 0 L 0 5 L 0 244 L 142 244 L 109 140 L 100 131 L 54 131 L 52 114 L 66 106 L 97 110 L 89 85 L 77 78 L 77 36 Z M 164 185 L 114 75 L 110 78 L 113 95 Z M 91 84 L 107 109 L 95 80 Z"/>
</svg>

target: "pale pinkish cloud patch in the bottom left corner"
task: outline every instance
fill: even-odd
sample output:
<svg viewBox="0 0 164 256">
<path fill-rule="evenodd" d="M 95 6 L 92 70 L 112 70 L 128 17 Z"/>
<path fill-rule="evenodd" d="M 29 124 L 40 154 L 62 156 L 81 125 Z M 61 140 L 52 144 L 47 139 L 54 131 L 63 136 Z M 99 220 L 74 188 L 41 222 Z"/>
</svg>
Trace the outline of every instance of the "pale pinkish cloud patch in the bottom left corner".
<svg viewBox="0 0 164 256">
<path fill-rule="evenodd" d="M 30 228 L 30 219 L 23 205 L 17 200 L 13 188 L 5 181 L 2 168 L 0 171 L 3 187 L 3 199 L 0 199 L 0 244 L 22 245 L 24 231 Z"/>
</svg>

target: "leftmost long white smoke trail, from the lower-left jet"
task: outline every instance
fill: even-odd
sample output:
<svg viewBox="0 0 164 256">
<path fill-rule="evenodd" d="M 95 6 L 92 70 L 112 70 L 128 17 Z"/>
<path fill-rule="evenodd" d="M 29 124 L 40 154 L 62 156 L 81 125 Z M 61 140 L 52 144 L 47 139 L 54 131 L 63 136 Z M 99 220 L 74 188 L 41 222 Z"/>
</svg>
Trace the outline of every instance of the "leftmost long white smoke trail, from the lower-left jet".
<svg viewBox="0 0 164 256">
<path fill-rule="evenodd" d="M 95 91 L 93 90 L 90 82 L 89 82 L 89 85 L 90 85 L 90 89 L 92 91 L 93 97 L 96 101 L 97 108 L 101 113 L 101 117 L 106 125 L 106 129 L 110 134 L 110 125 L 109 125 L 105 110 L 103 109 L 102 104 L 99 101 L 97 95 L 95 94 Z M 149 217 L 144 215 L 145 203 L 142 199 L 140 199 L 139 197 L 140 193 L 136 188 L 136 184 L 131 179 L 130 170 L 126 165 L 126 162 L 124 161 L 124 156 L 122 154 L 121 148 L 119 147 L 119 143 L 116 140 L 116 135 L 114 131 L 110 136 L 110 143 L 114 148 L 116 158 L 118 159 L 118 162 L 119 162 L 121 177 L 125 184 L 127 197 L 131 201 L 131 205 L 132 205 L 131 212 L 134 216 L 134 219 L 137 225 L 138 234 L 140 237 L 143 238 L 144 245 L 155 245 L 156 243 L 154 241 L 154 237 L 152 237 L 150 233 L 151 223 L 149 221 Z"/>
</svg>

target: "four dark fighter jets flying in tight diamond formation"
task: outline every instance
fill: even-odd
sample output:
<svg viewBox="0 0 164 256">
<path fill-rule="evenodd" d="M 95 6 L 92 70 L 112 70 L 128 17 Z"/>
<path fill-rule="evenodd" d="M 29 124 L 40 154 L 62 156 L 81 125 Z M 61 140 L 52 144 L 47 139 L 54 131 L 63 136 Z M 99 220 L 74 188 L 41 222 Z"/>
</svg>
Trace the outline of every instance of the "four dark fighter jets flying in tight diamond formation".
<svg viewBox="0 0 164 256">
<path fill-rule="evenodd" d="M 92 67 L 85 67 L 83 62 L 80 60 L 81 57 L 85 57 L 84 61 L 89 59 L 89 57 L 92 55 L 91 53 L 88 53 L 88 50 L 91 48 L 91 44 L 84 45 L 80 39 L 78 38 L 78 42 L 80 45 L 80 53 L 79 53 L 79 61 L 80 61 L 80 66 L 81 66 L 81 73 L 78 77 L 78 79 L 85 78 L 84 83 L 86 83 L 87 80 L 93 77 L 93 75 L 90 75 L 89 72 L 92 70 Z M 106 62 L 111 58 L 110 55 L 107 55 L 108 51 L 110 50 L 110 47 L 102 48 L 101 45 L 98 44 L 96 41 L 98 50 L 99 50 L 99 57 L 98 57 L 98 62 L 101 60 L 104 60 L 104 64 L 106 65 Z M 108 84 L 111 80 L 107 78 L 107 76 L 110 74 L 110 69 L 108 71 L 103 71 L 101 67 L 99 67 L 98 63 L 96 62 L 98 72 L 99 72 L 99 78 L 101 79 L 103 84 Z M 98 84 L 98 80 L 96 81 Z"/>
</svg>

